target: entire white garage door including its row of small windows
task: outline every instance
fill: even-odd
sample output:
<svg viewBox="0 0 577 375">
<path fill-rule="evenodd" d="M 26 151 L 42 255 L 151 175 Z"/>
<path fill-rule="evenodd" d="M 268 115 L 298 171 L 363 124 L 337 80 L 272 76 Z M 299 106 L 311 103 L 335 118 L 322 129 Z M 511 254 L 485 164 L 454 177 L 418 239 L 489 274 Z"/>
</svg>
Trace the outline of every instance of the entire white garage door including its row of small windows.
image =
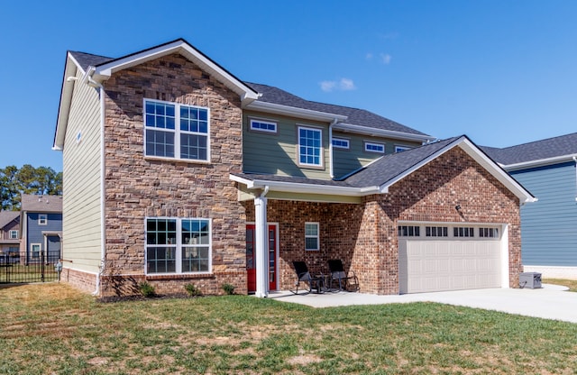
<svg viewBox="0 0 577 375">
<path fill-rule="evenodd" d="M 501 288 L 504 242 L 500 224 L 399 224 L 399 291 Z M 506 276 L 505 276 L 506 277 Z M 507 280 L 508 281 L 508 280 Z"/>
</svg>

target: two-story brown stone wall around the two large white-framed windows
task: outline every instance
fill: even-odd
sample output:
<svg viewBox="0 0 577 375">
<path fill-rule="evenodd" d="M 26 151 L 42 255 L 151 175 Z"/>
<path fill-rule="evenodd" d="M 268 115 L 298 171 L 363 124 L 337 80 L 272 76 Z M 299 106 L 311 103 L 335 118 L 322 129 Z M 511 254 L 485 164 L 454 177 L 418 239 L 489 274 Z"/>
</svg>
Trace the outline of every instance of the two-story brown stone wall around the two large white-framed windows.
<svg viewBox="0 0 577 375">
<path fill-rule="evenodd" d="M 106 259 L 101 297 L 137 293 L 147 280 L 162 294 L 195 284 L 246 293 L 245 214 L 229 173 L 242 170 L 240 98 L 178 54 L 124 69 L 105 83 Z M 209 164 L 144 158 L 143 99 L 210 108 Z M 145 218 L 212 219 L 210 275 L 145 276 Z"/>
</svg>

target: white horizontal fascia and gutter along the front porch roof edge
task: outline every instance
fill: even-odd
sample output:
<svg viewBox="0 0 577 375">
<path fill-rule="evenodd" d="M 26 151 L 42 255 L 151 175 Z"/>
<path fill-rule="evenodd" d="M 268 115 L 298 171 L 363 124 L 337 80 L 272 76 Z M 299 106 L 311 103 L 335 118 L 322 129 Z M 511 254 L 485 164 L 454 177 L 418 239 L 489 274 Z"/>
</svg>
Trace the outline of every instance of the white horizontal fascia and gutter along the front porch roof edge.
<svg viewBox="0 0 577 375">
<path fill-rule="evenodd" d="M 299 184 L 295 182 L 270 181 L 265 179 L 248 179 L 230 175 L 230 179 L 245 185 L 247 188 L 265 188 L 270 191 L 284 191 L 289 193 L 326 194 L 334 196 L 363 197 L 380 192 L 379 187 L 347 188 L 315 184 Z"/>
</svg>

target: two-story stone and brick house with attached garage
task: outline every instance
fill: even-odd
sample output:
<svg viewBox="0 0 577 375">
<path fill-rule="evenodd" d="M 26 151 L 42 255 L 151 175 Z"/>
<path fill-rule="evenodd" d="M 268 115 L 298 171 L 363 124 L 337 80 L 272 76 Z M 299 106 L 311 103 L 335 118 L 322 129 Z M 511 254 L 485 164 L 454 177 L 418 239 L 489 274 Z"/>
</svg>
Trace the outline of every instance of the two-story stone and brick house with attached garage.
<svg viewBox="0 0 577 375">
<path fill-rule="evenodd" d="M 62 280 L 266 297 L 293 287 L 292 261 L 338 258 L 369 293 L 517 286 L 519 206 L 535 197 L 466 136 L 434 140 L 244 82 L 182 39 L 69 51 Z"/>
</svg>

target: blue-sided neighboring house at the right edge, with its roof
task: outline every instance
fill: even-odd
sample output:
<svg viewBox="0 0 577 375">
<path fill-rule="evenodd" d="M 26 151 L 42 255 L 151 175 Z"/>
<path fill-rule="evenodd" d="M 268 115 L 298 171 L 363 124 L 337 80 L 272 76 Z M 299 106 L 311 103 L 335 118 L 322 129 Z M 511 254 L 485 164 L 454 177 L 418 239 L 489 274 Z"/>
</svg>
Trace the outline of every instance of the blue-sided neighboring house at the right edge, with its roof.
<svg viewBox="0 0 577 375">
<path fill-rule="evenodd" d="M 483 150 L 539 198 L 521 207 L 525 270 L 577 279 L 577 133 Z"/>
</svg>

